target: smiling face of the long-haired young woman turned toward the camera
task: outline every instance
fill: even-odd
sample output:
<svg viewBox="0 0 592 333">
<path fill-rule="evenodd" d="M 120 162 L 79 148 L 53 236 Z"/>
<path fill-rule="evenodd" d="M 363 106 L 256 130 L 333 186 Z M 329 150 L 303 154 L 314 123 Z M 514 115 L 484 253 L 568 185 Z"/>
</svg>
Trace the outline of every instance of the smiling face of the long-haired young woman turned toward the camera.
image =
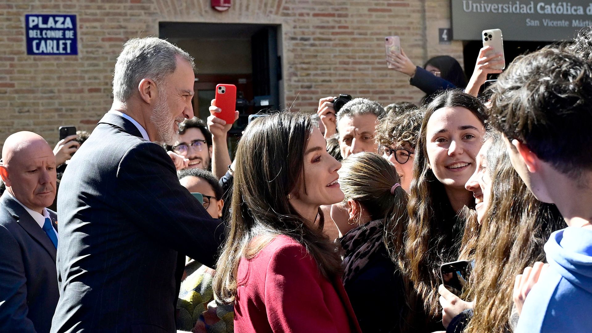
<svg viewBox="0 0 592 333">
<path fill-rule="evenodd" d="M 484 132 L 481 121 L 464 107 L 440 108 L 427 121 L 427 158 L 445 187 L 465 188 L 475 171 L 475 156 Z"/>
</svg>

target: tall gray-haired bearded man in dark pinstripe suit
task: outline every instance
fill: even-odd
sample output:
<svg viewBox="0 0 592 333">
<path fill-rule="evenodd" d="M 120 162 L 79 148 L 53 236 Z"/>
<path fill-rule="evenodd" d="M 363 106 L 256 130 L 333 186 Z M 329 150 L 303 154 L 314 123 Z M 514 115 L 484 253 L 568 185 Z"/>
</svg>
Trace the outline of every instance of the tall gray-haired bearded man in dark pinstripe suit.
<svg viewBox="0 0 592 333">
<path fill-rule="evenodd" d="M 223 236 L 162 146 L 193 117 L 193 59 L 155 37 L 117 58 L 111 110 L 58 194 L 60 300 L 52 332 L 174 332 L 179 252 L 213 267 Z"/>
</svg>

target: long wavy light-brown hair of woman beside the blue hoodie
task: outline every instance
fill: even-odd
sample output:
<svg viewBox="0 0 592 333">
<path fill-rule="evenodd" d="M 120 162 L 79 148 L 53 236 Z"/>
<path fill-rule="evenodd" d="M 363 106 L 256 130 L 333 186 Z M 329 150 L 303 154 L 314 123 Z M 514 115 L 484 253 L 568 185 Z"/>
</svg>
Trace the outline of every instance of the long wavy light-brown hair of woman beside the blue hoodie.
<svg viewBox="0 0 592 333">
<path fill-rule="evenodd" d="M 510 163 L 499 132 L 487 134 L 487 169 L 491 197 L 475 250 L 469 294 L 474 315 L 465 332 L 509 332 L 512 292 L 517 274 L 545 260 L 543 245 L 564 227 L 554 204 L 542 203 L 526 187 Z M 511 198 L 511 200 L 509 200 Z"/>
</svg>

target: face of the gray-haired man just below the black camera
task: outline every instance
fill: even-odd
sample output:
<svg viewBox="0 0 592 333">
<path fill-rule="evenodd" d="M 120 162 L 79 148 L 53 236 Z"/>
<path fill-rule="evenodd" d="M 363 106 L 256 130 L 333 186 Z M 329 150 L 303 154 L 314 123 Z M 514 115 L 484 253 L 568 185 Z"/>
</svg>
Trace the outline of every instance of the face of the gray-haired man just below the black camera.
<svg viewBox="0 0 592 333">
<path fill-rule="evenodd" d="M 378 117 L 374 114 L 359 114 L 343 117 L 337 123 L 339 130 L 339 149 L 343 158 L 359 152 L 377 152 L 378 143 L 374 140 Z"/>
</svg>

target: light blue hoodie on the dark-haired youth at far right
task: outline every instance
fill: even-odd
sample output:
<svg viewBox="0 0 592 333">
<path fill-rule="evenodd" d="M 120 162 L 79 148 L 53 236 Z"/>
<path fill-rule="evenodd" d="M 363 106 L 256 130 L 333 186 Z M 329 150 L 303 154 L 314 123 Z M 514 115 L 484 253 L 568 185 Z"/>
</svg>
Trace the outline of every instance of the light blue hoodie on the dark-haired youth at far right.
<svg viewBox="0 0 592 333">
<path fill-rule="evenodd" d="M 526 297 L 515 332 L 592 332 L 592 230 L 557 230 L 545 253 L 549 269 Z"/>
</svg>

